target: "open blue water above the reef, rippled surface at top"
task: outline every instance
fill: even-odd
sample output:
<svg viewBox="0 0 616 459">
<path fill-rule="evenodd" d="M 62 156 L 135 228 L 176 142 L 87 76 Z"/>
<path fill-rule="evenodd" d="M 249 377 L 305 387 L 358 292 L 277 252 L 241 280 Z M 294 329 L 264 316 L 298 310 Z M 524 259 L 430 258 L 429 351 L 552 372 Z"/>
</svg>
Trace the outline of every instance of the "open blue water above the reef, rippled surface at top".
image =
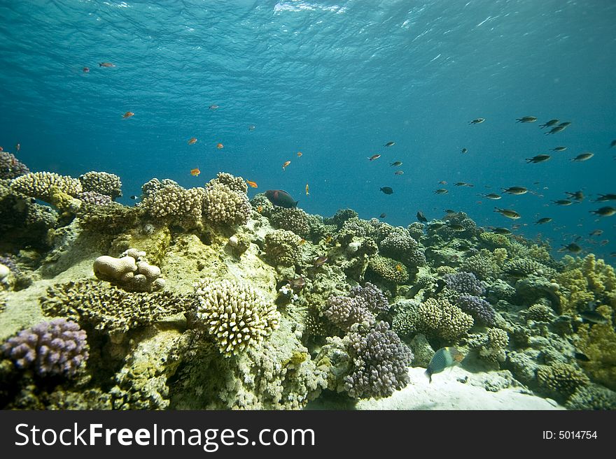
<svg viewBox="0 0 616 459">
<path fill-rule="evenodd" d="M 454 209 L 556 248 L 580 235 L 587 252 L 616 251 L 616 217 L 589 213 L 616 193 L 612 1 L 3 0 L 0 17 L 0 145 L 20 143 L 31 170 L 116 173 L 124 203 L 152 177 L 194 187 L 224 170 L 310 213 L 406 226 Z M 515 122 L 526 115 L 538 122 Z M 547 136 L 552 118 L 572 124 Z M 512 186 L 533 193 L 478 196 Z M 551 203 L 577 190 L 584 202 Z"/>
</svg>

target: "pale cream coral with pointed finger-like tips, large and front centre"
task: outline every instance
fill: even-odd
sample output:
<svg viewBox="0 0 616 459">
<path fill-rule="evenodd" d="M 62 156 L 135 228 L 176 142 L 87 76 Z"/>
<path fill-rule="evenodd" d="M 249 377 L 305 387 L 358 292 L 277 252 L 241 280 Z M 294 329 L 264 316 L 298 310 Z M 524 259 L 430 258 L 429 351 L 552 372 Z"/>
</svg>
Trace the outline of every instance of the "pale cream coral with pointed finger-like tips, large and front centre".
<svg viewBox="0 0 616 459">
<path fill-rule="evenodd" d="M 195 284 L 197 318 L 224 356 L 256 347 L 278 328 L 280 313 L 251 286 L 223 280 Z"/>
</svg>

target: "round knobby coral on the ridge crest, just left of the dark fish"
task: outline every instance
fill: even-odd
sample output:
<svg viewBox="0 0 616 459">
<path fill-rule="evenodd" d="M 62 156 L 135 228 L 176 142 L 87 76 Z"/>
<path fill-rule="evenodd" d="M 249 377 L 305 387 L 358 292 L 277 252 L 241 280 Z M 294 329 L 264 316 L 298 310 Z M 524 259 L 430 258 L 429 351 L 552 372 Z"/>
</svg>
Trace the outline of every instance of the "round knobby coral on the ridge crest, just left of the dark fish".
<svg viewBox="0 0 616 459">
<path fill-rule="evenodd" d="M 203 192 L 204 217 L 214 224 L 245 224 L 251 213 L 246 193 L 233 191 L 221 182 L 211 181 Z"/>
</svg>

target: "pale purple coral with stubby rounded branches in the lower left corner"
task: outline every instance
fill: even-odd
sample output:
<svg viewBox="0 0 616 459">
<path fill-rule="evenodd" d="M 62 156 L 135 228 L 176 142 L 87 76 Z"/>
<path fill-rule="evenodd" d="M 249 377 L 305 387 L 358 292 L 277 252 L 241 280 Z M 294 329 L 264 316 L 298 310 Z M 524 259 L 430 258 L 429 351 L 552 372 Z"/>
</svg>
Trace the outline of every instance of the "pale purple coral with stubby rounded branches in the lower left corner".
<svg viewBox="0 0 616 459">
<path fill-rule="evenodd" d="M 34 367 L 41 376 L 71 377 L 88 356 L 85 331 L 66 319 L 22 330 L 9 338 L 1 350 L 18 367 Z"/>
</svg>

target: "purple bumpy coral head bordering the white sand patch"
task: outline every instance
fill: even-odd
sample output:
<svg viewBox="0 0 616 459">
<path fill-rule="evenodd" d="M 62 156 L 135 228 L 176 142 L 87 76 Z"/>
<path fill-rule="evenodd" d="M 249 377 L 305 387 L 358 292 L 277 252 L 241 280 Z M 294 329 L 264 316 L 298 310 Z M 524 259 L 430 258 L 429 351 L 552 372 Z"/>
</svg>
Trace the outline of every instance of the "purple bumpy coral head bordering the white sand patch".
<svg viewBox="0 0 616 459">
<path fill-rule="evenodd" d="M 407 366 L 413 353 L 388 323 L 381 321 L 368 330 L 353 326 L 345 340 L 353 358 L 353 370 L 344 378 L 351 397 L 388 397 L 409 383 Z"/>
</svg>

